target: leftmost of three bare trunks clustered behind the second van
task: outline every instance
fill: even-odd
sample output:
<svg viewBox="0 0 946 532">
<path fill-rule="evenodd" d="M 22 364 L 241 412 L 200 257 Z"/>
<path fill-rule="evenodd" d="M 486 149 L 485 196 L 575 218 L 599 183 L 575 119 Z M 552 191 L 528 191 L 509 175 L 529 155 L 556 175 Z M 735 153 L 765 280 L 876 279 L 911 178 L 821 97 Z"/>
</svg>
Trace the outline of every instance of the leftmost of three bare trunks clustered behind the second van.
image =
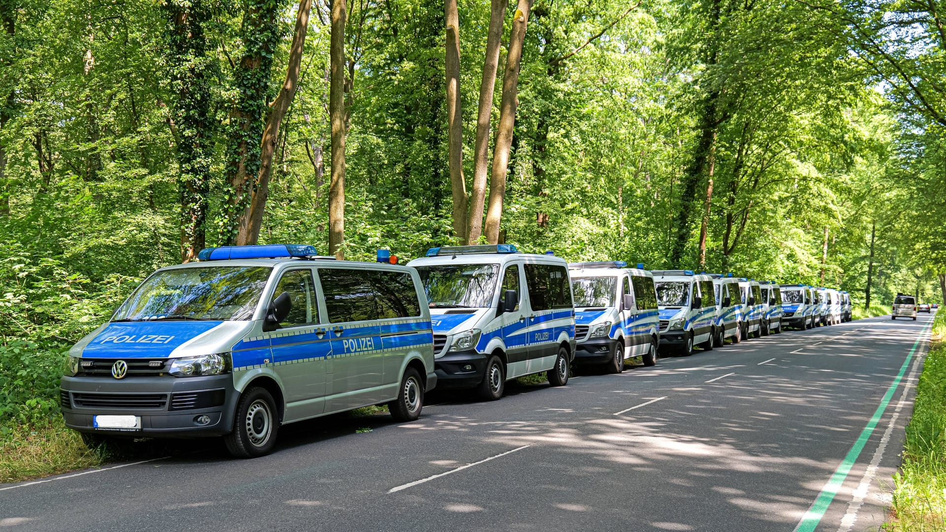
<svg viewBox="0 0 946 532">
<path fill-rule="evenodd" d="M 453 192 L 453 236 L 466 241 L 466 179 L 464 178 L 464 116 L 460 105 L 460 14 L 457 0 L 445 0 L 447 18 L 447 166 Z"/>
</svg>

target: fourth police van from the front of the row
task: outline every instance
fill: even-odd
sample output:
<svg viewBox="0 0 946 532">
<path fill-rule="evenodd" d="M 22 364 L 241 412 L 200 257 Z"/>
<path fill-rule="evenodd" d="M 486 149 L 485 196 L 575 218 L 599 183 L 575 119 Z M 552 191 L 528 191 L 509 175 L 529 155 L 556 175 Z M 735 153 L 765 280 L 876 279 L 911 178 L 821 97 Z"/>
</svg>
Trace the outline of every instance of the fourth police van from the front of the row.
<svg viewBox="0 0 946 532">
<path fill-rule="evenodd" d="M 710 275 L 691 270 L 655 270 L 657 309 L 660 316 L 660 346 L 683 356 L 693 346 L 712 349 L 716 320 L 716 296 Z"/>
</svg>

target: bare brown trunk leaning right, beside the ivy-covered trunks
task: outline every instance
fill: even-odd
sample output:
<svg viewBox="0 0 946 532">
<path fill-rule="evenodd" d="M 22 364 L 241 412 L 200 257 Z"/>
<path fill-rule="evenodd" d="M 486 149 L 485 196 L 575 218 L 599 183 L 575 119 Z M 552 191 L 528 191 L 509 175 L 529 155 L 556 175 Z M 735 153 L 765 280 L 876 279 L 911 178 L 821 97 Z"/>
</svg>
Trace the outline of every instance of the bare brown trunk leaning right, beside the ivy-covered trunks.
<svg viewBox="0 0 946 532">
<path fill-rule="evenodd" d="M 308 15 L 312 9 L 312 0 L 299 0 L 299 11 L 296 13 L 296 27 L 292 35 L 292 44 L 289 46 L 289 66 L 286 69 L 286 80 L 279 95 L 270 104 L 270 113 L 266 117 L 266 129 L 263 130 L 263 142 L 260 149 L 259 177 L 254 186 L 253 200 L 250 204 L 250 220 L 246 233 L 241 233 L 237 244 L 254 244 L 259 240 L 259 230 L 263 224 L 263 213 L 266 211 L 266 200 L 270 193 L 270 178 L 272 177 L 272 155 L 276 149 L 276 140 L 279 138 L 279 126 L 289 111 L 289 105 L 295 98 L 299 88 L 299 69 L 302 65 L 303 50 L 306 46 L 308 30 Z M 242 224 L 241 224 L 242 226 Z"/>
</svg>

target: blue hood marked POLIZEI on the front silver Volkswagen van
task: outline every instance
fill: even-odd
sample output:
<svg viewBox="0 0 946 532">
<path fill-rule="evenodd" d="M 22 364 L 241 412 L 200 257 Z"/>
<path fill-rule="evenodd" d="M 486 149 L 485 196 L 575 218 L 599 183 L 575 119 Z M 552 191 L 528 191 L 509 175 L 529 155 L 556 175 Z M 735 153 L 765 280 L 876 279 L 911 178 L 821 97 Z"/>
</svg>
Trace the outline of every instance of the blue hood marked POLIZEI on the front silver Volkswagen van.
<svg viewBox="0 0 946 532">
<path fill-rule="evenodd" d="M 85 358 L 168 358 L 171 352 L 227 322 L 120 322 L 109 323 L 82 339 Z M 233 323 L 233 322 L 230 322 Z M 75 356 L 75 355 L 74 355 Z"/>
</svg>

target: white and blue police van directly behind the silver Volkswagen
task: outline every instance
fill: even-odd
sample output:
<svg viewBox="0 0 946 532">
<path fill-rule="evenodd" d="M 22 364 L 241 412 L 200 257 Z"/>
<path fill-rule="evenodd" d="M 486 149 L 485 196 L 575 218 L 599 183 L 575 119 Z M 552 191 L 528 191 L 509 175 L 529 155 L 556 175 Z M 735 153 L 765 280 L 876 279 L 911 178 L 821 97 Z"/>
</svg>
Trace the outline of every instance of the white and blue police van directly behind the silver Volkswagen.
<svg viewBox="0 0 946 532">
<path fill-rule="evenodd" d="M 429 300 L 439 387 L 495 400 L 525 375 L 569 381 L 575 310 L 565 260 L 494 244 L 430 248 L 408 266 Z"/>
</svg>

